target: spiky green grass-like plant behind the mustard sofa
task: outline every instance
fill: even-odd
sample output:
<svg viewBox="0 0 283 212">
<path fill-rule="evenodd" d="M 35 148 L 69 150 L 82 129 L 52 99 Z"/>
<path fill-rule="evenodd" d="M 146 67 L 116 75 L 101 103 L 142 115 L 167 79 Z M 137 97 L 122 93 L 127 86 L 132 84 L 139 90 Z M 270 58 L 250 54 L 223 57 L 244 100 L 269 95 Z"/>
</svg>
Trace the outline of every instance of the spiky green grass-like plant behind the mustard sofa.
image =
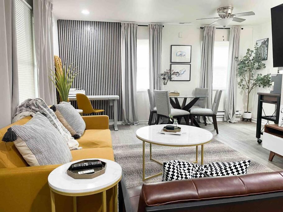
<svg viewBox="0 0 283 212">
<path fill-rule="evenodd" d="M 75 70 L 77 67 L 71 69 L 72 65 L 73 64 L 71 63 L 68 68 L 66 68 L 66 64 L 63 66 L 63 68 L 61 68 L 62 66 L 58 67 L 55 65 L 55 71 L 50 69 L 51 73 L 48 77 L 57 88 L 60 102 L 69 101 L 68 96 L 71 85 L 75 79 L 75 76 L 79 73 L 79 71 Z"/>
</svg>

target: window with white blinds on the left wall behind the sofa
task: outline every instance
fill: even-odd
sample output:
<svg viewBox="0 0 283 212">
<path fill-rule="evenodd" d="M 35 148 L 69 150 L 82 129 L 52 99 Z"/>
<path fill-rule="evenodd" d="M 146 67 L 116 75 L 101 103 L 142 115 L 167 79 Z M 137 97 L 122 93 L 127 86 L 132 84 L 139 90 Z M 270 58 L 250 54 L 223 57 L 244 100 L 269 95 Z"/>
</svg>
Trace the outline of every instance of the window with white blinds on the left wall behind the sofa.
<svg viewBox="0 0 283 212">
<path fill-rule="evenodd" d="M 37 97 L 34 60 L 33 12 L 24 0 L 15 1 L 20 103 Z"/>
</svg>

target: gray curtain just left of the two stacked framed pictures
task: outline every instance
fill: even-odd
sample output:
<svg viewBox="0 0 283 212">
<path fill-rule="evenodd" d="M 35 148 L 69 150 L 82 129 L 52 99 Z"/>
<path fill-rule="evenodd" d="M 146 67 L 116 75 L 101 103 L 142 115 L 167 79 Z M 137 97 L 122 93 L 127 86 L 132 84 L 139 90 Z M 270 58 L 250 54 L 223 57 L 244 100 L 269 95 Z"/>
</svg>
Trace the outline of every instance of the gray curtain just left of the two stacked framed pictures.
<svg viewBox="0 0 283 212">
<path fill-rule="evenodd" d="M 153 90 L 161 90 L 161 80 L 157 77 L 161 71 L 161 42 L 162 24 L 149 24 L 149 89 L 152 93 L 153 107 L 155 106 Z M 157 118 L 154 114 L 153 121 Z M 163 120 L 163 118 L 162 118 Z M 162 121 L 161 120 L 161 121 Z"/>
</svg>

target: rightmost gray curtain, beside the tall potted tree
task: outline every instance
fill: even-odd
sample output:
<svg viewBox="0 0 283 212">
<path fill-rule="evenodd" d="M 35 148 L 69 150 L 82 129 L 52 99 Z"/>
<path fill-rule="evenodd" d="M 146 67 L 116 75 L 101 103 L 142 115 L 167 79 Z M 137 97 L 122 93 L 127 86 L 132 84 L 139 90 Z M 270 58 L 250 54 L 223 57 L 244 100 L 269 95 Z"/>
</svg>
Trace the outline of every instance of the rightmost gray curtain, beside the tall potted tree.
<svg viewBox="0 0 283 212">
<path fill-rule="evenodd" d="M 224 121 L 228 121 L 231 123 L 237 123 L 236 120 L 237 66 L 236 66 L 235 57 L 239 56 L 240 32 L 241 32 L 240 26 L 230 27 L 227 90 L 226 90 L 226 100 L 225 100 Z"/>
</svg>

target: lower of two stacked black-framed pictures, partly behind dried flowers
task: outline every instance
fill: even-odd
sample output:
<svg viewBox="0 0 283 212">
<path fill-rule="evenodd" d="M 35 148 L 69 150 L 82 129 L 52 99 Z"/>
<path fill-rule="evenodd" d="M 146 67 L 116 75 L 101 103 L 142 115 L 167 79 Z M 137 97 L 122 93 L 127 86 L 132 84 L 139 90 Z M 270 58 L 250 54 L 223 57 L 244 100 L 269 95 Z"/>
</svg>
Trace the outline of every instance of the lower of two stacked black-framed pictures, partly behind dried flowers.
<svg viewBox="0 0 283 212">
<path fill-rule="evenodd" d="M 191 64 L 178 63 L 170 64 L 171 81 L 190 81 Z"/>
</svg>

